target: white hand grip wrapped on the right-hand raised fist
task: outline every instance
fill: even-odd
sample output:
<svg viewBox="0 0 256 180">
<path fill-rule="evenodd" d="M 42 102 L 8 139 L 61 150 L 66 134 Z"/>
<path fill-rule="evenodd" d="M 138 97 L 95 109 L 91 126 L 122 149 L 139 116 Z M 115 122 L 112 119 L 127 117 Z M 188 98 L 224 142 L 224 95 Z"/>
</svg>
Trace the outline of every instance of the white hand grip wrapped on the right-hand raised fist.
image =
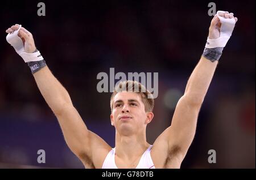
<svg viewBox="0 0 256 180">
<path fill-rule="evenodd" d="M 220 37 L 216 39 L 207 38 L 207 44 L 205 44 L 205 48 L 224 48 L 226 43 L 228 42 L 230 36 L 232 35 L 234 26 L 236 24 L 236 20 L 233 18 L 224 18 L 218 15 L 218 13 L 225 13 L 227 11 L 217 11 L 216 16 L 220 19 L 221 29 L 220 29 Z"/>
</svg>

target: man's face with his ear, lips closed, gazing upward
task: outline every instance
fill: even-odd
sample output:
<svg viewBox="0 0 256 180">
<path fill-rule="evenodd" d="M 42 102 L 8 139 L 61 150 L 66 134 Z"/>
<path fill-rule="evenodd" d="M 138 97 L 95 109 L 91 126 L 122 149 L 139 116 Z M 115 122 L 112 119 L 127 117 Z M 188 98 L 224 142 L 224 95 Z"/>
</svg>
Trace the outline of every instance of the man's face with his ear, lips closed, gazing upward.
<svg viewBox="0 0 256 180">
<path fill-rule="evenodd" d="M 120 133 L 128 135 L 142 131 L 152 118 L 152 112 L 145 112 L 139 93 L 125 91 L 114 96 L 110 119 L 112 125 Z"/>
</svg>

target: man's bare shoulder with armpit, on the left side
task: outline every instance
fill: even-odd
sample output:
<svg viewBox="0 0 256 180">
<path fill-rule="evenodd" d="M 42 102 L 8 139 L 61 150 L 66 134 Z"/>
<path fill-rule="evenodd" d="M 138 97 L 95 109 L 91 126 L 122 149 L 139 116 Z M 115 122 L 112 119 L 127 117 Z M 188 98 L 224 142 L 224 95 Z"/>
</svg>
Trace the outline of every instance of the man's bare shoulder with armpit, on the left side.
<svg viewBox="0 0 256 180">
<path fill-rule="evenodd" d="M 89 145 L 90 148 L 86 148 L 89 150 L 79 156 L 85 168 L 102 168 L 103 162 L 112 147 L 92 131 L 89 131 L 89 143 L 85 145 Z"/>
</svg>

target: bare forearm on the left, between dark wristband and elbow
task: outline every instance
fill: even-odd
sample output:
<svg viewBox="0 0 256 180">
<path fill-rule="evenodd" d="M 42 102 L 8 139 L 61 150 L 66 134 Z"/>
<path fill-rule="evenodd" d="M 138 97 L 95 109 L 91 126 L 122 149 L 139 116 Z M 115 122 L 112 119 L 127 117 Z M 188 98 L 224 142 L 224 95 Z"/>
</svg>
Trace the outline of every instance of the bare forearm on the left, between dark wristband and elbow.
<svg viewBox="0 0 256 180">
<path fill-rule="evenodd" d="M 60 114 L 65 105 L 72 105 L 67 90 L 47 66 L 35 72 L 34 78 L 44 99 L 55 114 Z"/>
</svg>

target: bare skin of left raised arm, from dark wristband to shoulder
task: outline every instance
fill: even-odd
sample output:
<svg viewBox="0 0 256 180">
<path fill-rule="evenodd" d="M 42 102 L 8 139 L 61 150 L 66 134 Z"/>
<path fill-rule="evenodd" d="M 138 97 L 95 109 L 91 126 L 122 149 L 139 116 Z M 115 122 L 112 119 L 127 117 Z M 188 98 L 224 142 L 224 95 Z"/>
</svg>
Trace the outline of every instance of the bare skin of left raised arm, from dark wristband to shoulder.
<svg viewBox="0 0 256 180">
<path fill-rule="evenodd" d="M 96 166 L 110 149 L 109 145 L 88 130 L 72 105 L 67 90 L 47 66 L 36 72 L 34 77 L 40 92 L 59 121 L 68 147 L 85 165 L 92 168 Z"/>
</svg>

